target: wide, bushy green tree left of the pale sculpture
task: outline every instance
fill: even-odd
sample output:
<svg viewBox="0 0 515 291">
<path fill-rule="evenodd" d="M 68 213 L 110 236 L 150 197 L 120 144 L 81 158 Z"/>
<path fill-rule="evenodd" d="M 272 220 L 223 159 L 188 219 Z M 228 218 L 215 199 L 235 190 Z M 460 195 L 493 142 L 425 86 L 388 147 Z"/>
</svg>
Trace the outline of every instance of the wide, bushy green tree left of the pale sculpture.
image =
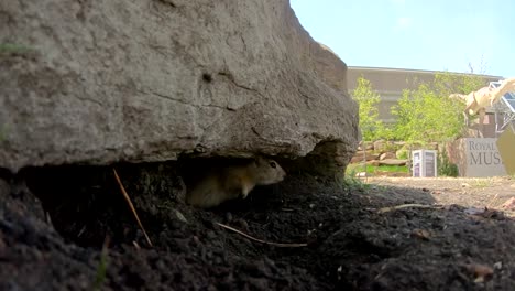
<svg viewBox="0 0 515 291">
<path fill-rule="evenodd" d="M 483 87 L 484 79 L 468 74 L 437 73 L 432 83 L 404 90 L 392 108 L 397 117 L 395 139 L 413 142 L 443 142 L 457 138 L 463 129 L 464 104 L 450 94 L 468 94 Z"/>
</svg>

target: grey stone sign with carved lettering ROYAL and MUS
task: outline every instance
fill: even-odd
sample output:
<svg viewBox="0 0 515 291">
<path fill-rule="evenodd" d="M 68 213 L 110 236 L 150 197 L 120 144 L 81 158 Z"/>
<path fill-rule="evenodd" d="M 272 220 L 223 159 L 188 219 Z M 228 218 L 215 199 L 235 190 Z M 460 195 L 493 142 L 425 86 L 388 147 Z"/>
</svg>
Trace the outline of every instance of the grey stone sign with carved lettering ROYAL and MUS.
<svg viewBox="0 0 515 291">
<path fill-rule="evenodd" d="M 506 175 L 496 138 L 464 138 L 454 141 L 451 162 L 460 176 Z"/>
</svg>

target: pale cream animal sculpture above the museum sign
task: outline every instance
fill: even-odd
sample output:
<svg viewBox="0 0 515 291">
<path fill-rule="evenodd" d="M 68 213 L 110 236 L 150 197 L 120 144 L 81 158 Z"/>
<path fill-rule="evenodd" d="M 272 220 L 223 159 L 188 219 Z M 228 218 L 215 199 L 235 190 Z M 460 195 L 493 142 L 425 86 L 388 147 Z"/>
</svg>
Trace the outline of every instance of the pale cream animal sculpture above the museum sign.
<svg viewBox="0 0 515 291">
<path fill-rule="evenodd" d="M 467 106 L 463 110 L 463 116 L 467 125 L 469 125 L 471 116 L 479 115 L 479 127 L 480 132 L 482 132 L 486 107 L 496 104 L 501 97 L 508 91 L 515 91 L 515 77 L 502 80 L 501 85 L 496 88 L 483 87 L 479 90 L 471 91 L 468 95 L 451 94 L 449 97 L 459 98 L 465 103 Z"/>
</svg>

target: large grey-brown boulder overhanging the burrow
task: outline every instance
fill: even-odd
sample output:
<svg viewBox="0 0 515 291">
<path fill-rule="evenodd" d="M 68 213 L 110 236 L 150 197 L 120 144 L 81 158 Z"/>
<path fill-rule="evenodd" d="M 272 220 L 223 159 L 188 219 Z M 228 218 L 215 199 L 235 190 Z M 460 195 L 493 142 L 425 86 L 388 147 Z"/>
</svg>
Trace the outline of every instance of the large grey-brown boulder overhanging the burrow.
<svg viewBox="0 0 515 291">
<path fill-rule="evenodd" d="M 287 0 L 0 1 L 0 166 L 327 142 L 344 165 L 358 138 L 346 72 Z"/>
</svg>

